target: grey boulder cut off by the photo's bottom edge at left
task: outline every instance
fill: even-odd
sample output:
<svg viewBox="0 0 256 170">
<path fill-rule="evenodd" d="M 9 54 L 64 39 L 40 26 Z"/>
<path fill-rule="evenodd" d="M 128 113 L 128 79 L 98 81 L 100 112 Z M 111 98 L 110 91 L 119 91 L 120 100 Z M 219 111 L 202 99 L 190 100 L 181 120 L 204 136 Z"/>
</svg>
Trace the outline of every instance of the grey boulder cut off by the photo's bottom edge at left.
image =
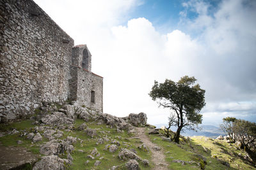
<svg viewBox="0 0 256 170">
<path fill-rule="evenodd" d="M 42 157 L 40 161 L 35 163 L 35 166 L 33 167 L 33 170 L 64 170 L 64 160 L 60 159 L 56 155 L 50 155 Z"/>
</svg>

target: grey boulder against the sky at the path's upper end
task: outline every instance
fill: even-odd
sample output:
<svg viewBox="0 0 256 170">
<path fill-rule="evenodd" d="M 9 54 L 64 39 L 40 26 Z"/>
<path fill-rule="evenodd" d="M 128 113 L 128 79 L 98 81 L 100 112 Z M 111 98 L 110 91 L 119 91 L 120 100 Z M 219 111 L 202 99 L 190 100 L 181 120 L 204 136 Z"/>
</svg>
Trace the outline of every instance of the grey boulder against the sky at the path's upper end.
<svg viewBox="0 0 256 170">
<path fill-rule="evenodd" d="M 130 124 L 138 127 L 138 125 L 147 124 L 147 115 L 145 113 L 134 114 L 131 113 L 128 117 L 125 117 L 124 120 Z"/>
</svg>

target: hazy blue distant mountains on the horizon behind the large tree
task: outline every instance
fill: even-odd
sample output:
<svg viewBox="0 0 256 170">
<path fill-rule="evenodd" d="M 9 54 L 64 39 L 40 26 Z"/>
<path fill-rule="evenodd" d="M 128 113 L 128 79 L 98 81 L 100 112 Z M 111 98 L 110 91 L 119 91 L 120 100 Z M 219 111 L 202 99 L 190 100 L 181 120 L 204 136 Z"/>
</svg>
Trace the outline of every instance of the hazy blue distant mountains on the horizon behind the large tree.
<svg viewBox="0 0 256 170">
<path fill-rule="evenodd" d="M 163 126 L 164 126 L 164 124 L 156 125 L 157 128 L 160 128 Z M 197 132 L 186 130 L 186 131 L 182 132 L 181 134 L 182 134 L 182 136 L 206 136 L 209 138 L 217 138 L 220 135 L 225 135 L 221 131 L 220 127 L 216 127 L 214 125 L 200 125 L 200 128 L 202 130 L 197 131 Z M 171 130 L 175 132 L 177 130 L 177 127 L 171 127 Z"/>
</svg>

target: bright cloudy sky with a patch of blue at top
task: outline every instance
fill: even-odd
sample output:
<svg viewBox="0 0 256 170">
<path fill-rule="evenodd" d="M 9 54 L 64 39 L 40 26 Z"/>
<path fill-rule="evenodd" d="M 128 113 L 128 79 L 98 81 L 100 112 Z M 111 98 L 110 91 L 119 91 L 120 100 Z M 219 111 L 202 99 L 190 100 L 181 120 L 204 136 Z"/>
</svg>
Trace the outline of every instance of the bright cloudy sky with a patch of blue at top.
<svg viewBox="0 0 256 170">
<path fill-rule="evenodd" d="M 148 93 L 154 80 L 195 76 L 205 89 L 203 124 L 256 122 L 256 1 L 35 0 L 92 53 L 104 77 L 104 113 L 144 112 L 167 124 L 170 110 Z"/>
</svg>

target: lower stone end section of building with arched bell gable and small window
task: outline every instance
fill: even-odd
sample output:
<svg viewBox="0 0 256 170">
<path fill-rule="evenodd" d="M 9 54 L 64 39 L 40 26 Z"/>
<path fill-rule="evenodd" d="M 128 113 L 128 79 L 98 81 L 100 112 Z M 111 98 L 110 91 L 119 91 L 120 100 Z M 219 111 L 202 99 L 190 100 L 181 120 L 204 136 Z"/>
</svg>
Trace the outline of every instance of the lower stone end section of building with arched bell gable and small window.
<svg viewBox="0 0 256 170">
<path fill-rule="evenodd" d="M 83 66 L 83 58 L 88 55 L 87 66 Z M 73 48 L 72 66 L 70 66 L 70 99 L 77 101 L 79 105 L 103 111 L 102 92 L 103 78 L 91 72 L 92 55 L 86 45 L 79 45 Z M 87 64 L 88 63 L 88 64 Z M 92 101 L 92 91 L 94 101 Z"/>
</svg>

